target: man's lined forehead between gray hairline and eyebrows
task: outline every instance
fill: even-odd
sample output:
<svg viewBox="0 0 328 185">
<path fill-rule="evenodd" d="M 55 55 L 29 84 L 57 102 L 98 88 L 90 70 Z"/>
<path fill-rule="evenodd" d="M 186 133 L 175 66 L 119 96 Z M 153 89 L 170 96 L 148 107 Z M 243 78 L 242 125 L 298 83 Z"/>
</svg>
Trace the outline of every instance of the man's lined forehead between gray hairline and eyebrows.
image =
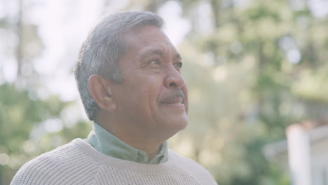
<svg viewBox="0 0 328 185">
<path fill-rule="evenodd" d="M 125 43 L 128 45 L 128 52 L 137 55 L 148 55 L 153 51 L 160 51 L 160 54 L 177 53 L 168 36 L 155 26 L 144 26 L 134 29 L 124 34 Z"/>
</svg>

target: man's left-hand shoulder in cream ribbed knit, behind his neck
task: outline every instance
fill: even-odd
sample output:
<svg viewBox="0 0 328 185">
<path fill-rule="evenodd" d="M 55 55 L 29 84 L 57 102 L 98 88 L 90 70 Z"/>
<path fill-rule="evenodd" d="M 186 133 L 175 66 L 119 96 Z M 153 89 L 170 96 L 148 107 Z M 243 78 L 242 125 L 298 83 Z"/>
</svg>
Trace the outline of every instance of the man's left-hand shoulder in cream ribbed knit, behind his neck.
<svg viewBox="0 0 328 185">
<path fill-rule="evenodd" d="M 30 160 L 20 167 L 11 184 L 67 184 L 74 180 L 72 177 L 81 177 L 88 169 L 95 169 L 97 163 L 74 146 L 74 142 L 76 139 Z"/>
</svg>

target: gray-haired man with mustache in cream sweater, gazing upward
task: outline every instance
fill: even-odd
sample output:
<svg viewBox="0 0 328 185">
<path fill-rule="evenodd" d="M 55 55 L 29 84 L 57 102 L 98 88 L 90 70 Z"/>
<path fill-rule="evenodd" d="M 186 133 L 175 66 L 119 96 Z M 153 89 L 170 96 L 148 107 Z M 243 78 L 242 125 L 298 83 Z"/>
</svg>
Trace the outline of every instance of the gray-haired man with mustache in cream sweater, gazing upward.
<svg viewBox="0 0 328 185">
<path fill-rule="evenodd" d="M 104 17 L 81 47 L 76 81 L 94 131 L 20 168 L 12 184 L 216 184 L 168 149 L 186 128 L 182 57 L 149 12 Z"/>
</svg>

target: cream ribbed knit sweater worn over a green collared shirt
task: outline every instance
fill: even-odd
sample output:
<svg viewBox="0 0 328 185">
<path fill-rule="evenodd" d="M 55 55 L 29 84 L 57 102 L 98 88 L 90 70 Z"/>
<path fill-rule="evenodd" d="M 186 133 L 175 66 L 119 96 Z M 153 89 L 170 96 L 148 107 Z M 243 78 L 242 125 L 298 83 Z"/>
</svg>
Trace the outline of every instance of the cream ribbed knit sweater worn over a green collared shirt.
<svg viewBox="0 0 328 185">
<path fill-rule="evenodd" d="M 106 156 L 83 139 L 44 153 L 23 165 L 12 185 L 26 184 L 216 184 L 198 163 L 169 150 L 157 165 Z"/>
</svg>

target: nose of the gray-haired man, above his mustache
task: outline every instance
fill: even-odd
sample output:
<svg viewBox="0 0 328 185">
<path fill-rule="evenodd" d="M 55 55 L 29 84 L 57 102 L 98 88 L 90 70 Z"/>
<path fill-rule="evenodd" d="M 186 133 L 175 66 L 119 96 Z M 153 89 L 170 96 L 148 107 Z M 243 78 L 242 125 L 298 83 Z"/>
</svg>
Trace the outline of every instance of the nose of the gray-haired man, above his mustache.
<svg viewBox="0 0 328 185">
<path fill-rule="evenodd" d="M 181 88 L 185 84 L 182 75 L 175 69 L 175 67 L 170 67 L 168 69 L 168 74 L 165 76 L 164 85 L 166 88 Z"/>
</svg>

